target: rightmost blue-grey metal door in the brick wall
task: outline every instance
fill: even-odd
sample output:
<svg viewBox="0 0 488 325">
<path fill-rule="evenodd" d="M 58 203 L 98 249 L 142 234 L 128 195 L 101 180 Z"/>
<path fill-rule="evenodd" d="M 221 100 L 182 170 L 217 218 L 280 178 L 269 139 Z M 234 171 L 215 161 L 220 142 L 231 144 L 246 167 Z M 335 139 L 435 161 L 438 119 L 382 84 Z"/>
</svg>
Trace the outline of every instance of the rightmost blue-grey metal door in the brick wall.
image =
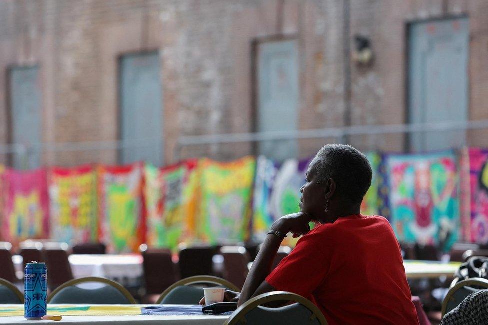
<svg viewBox="0 0 488 325">
<path fill-rule="evenodd" d="M 467 18 L 409 25 L 408 97 L 410 123 L 465 121 L 468 118 Z M 465 145 L 465 131 L 416 133 L 414 151 Z"/>
</svg>

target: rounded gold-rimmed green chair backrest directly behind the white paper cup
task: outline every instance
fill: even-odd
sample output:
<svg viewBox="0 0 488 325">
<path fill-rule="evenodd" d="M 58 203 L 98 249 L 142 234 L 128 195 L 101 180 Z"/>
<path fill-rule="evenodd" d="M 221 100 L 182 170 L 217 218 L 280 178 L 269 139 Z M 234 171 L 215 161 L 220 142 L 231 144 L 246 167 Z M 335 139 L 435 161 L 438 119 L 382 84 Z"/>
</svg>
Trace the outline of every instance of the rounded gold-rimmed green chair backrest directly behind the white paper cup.
<svg viewBox="0 0 488 325">
<path fill-rule="evenodd" d="M 157 299 L 157 304 L 198 304 L 203 297 L 203 288 L 222 286 L 228 290 L 239 291 L 229 281 L 216 276 L 191 276 L 177 281 L 168 287 Z"/>
</svg>

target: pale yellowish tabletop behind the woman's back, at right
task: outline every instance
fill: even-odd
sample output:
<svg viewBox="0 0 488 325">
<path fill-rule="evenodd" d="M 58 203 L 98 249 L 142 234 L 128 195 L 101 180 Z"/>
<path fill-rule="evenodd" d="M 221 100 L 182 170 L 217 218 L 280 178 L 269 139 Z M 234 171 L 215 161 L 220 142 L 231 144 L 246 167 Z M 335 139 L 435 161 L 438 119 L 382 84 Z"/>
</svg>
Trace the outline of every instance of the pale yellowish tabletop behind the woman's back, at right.
<svg viewBox="0 0 488 325">
<path fill-rule="evenodd" d="M 441 276 L 454 277 L 455 272 L 461 266 L 460 262 L 439 262 L 426 260 L 404 260 L 406 277 L 414 278 L 438 278 Z"/>
</svg>

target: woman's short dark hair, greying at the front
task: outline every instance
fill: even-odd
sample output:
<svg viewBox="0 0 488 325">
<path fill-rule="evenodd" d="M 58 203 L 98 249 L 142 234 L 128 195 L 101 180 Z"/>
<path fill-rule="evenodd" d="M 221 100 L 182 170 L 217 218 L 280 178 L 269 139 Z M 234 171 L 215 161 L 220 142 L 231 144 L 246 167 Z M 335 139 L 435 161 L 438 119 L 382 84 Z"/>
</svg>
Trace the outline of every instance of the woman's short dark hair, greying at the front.
<svg viewBox="0 0 488 325">
<path fill-rule="evenodd" d="M 371 186 L 372 170 L 366 156 L 350 145 L 327 144 L 315 156 L 314 174 L 319 183 L 332 178 L 335 195 L 360 203 Z"/>
</svg>

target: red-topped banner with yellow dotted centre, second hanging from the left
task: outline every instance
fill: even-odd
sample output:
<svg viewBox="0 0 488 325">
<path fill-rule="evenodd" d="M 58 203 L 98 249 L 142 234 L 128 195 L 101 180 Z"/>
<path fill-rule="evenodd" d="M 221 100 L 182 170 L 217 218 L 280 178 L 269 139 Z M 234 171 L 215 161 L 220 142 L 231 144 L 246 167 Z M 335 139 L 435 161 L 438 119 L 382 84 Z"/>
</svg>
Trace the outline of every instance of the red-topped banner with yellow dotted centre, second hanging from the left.
<svg viewBox="0 0 488 325">
<path fill-rule="evenodd" d="M 93 167 L 53 168 L 49 183 L 51 238 L 71 244 L 96 241 L 96 194 Z"/>
</svg>

